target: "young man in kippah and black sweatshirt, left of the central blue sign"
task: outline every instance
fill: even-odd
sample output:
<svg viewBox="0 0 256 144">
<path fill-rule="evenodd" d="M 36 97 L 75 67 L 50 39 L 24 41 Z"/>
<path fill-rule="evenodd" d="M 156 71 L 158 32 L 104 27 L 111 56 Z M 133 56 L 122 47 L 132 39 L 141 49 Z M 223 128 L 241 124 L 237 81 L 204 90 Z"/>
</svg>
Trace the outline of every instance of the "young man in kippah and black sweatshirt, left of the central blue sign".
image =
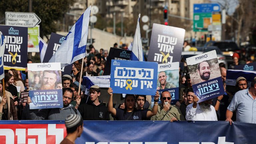
<svg viewBox="0 0 256 144">
<path fill-rule="evenodd" d="M 100 87 L 93 85 L 89 89 L 90 95 L 87 103 L 81 104 L 78 110 L 83 120 L 109 120 L 107 107 L 99 99 Z"/>
</svg>

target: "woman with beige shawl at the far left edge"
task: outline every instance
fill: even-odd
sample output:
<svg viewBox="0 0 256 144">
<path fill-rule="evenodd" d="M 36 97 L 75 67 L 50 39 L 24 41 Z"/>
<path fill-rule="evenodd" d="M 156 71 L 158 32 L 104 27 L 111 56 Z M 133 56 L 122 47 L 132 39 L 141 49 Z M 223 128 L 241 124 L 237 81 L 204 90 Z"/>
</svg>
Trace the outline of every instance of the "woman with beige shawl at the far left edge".
<svg viewBox="0 0 256 144">
<path fill-rule="evenodd" d="M 0 101 L 0 120 L 18 120 L 13 96 L 6 90 L 4 96 L 2 82 L 0 82 Z"/>
</svg>

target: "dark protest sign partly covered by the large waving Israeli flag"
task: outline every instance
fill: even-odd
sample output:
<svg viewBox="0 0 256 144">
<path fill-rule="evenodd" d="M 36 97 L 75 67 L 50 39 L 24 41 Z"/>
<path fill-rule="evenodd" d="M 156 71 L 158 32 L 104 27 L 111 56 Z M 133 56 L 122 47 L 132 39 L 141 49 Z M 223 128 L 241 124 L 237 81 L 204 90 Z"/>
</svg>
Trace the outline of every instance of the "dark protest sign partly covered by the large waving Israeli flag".
<svg viewBox="0 0 256 144">
<path fill-rule="evenodd" d="M 46 54 L 44 56 L 43 63 L 48 63 L 48 61 L 51 59 L 52 55 L 58 50 L 60 45 L 62 44 L 63 40 L 65 39 L 65 36 L 59 35 L 56 33 L 51 33 L 51 37 L 49 39 L 49 43 L 47 45 Z M 72 70 L 72 64 L 65 66 L 61 68 L 61 74 L 62 75 L 70 75 Z"/>
</svg>

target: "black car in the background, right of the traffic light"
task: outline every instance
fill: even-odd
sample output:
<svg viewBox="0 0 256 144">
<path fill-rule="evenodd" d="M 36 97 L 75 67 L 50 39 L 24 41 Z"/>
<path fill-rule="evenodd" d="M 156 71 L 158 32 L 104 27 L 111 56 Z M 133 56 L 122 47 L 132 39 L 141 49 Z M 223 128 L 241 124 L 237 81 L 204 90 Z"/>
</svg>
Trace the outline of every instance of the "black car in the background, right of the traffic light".
<svg viewBox="0 0 256 144">
<path fill-rule="evenodd" d="M 232 56 L 234 53 L 241 52 L 241 49 L 237 46 L 237 44 L 233 41 L 209 41 L 205 43 L 204 47 L 209 46 L 217 46 L 222 52 L 223 55 L 226 56 L 226 61 L 229 64 L 233 63 Z"/>
</svg>

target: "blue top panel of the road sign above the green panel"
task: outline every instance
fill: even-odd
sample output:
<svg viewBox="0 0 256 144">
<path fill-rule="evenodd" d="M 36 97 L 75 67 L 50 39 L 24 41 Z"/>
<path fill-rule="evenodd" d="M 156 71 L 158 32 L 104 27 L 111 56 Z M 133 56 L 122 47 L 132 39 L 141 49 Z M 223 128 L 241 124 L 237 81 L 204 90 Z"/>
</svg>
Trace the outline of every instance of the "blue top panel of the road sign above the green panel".
<svg viewBox="0 0 256 144">
<path fill-rule="evenodd" d="M 194 4 L 193 10 L 194 10 L 194 13 L 219 12 L 220 5 L 217 3 Z"/>
</svg>

